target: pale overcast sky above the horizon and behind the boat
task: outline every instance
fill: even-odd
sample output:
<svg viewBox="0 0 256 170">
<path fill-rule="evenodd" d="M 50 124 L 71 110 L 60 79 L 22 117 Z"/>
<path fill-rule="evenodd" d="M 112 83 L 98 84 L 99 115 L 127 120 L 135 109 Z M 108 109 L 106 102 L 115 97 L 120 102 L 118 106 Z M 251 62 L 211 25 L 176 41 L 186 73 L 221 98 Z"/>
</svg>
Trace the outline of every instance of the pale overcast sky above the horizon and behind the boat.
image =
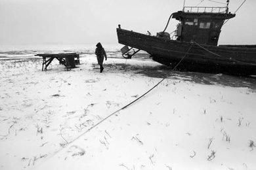
<svg viewBox="0 0 256 170">
<path fill-rule="evenodd" d="M 196 6 L 201 0 L 186 0 Z M 226 0 L 215 0 L 225 2 Z M 230 0 L 234 12 L 244 0 Z M 205 0 L 202 6 L 221 4 Z M 117 43 L 116 27 L 153 35 L 183 0 L 0 0 L 0 44 Z M 224 25 L 221 44 L 256 44 L 256 1 L 247 0 Z M 167 31 L 175 29 L 171 20 Z"/>
</svg>

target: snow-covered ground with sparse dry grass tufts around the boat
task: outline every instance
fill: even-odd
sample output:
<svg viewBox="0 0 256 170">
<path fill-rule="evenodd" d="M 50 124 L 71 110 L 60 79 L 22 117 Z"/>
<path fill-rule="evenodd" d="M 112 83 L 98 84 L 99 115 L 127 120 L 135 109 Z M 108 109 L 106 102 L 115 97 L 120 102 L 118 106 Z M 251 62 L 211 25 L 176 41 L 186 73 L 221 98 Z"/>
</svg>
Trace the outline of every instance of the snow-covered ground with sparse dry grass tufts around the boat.
<svg viewBox="0 0 256 170">
<path fill-rule="evenodd" d="M 0 60 L 0 169 L 256 169 L 255 78 L 80 60 Z"/>
</svg>

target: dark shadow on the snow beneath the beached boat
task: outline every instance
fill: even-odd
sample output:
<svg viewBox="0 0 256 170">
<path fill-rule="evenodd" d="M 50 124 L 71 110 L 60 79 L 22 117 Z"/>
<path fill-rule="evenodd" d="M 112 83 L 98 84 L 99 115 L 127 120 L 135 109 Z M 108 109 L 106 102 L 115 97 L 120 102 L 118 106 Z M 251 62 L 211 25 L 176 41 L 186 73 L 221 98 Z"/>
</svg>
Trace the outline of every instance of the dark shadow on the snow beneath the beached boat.
<svg viewBox="0 0 256 170">
<path fill-rule="evenodd" d="M 95 65 L 95 69 L 98 65 Z M 253 76 L 231 76 L 223 74 L 194 73 L 171 71 L 170 67 L 165 65 L 131 65 L 126 63 L 106 64 L 106 71 L 110 72 L 131 72 L 152 78 L 170 78 L 173 80 L 186 80 L 196 84 L 219 84 L 221 86 L 242 87 L 256 90 L 256 77 Z"/>
</svg>

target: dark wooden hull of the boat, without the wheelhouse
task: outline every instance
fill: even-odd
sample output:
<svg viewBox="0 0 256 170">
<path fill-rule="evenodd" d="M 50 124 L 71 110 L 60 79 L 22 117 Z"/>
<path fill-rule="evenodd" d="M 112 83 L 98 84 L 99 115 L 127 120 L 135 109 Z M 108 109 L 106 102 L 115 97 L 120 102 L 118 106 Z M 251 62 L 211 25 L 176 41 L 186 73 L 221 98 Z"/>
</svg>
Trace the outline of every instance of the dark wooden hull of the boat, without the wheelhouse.
<svg viewBox="0 0 256 170">
<path fill-rule="evenodd" d="M 120 44 L 144 50 L 152 59 L 181 71 L 256 75 L 255 46 L 209 46 L 144 35 L 117 28 Z M 184 58 L 184 59 L 182 59 Z"/>
</svg>

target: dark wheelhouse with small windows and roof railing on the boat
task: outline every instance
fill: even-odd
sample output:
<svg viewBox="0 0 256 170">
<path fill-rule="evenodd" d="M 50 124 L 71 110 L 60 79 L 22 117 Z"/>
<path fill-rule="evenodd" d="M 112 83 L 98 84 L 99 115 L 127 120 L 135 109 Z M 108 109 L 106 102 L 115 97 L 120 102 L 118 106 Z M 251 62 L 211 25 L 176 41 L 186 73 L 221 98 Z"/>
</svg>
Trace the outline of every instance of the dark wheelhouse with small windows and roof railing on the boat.
<svg viewBox="0 0 256 170">
<path fill-rule="evenodd" d="M 180 21 L 176 31 L 177 41 L 217 46 L 224 21 L 235 16 L 228 12 L 228 7 L 184 7 L 172 16 Z"/>
</svg>

